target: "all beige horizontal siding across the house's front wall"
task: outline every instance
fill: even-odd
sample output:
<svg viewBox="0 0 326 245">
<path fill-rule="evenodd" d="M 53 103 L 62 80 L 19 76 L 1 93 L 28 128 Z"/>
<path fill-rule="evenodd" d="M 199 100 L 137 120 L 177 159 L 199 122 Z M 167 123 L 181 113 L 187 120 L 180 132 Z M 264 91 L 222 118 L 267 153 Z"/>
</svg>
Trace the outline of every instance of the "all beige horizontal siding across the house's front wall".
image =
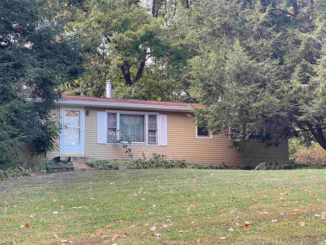
<svg viewBox="0 0 326 245">
<path fill-rule="evenodd" d="M 90 115 L 86 115 L 86 111 Z M 97 111 L 105 111 L 105 108 L 85 107 L 85 157 L 95 157 L 98 160 L 130 159 L 121 144 L 97 143 Z M 140 110 L 139 110 L 140 111 Z M 60 108 L 52 111 L 60 121 Z M 144 111 L 148 112 L 148 111 Z M 152 111 L 155 112 L 155 111 Z M 132 144 L 131 150 L 134 159 L 150 159 L 153 153 L 164 154 L 168 159 L 184 159 L 196 163 L 226 164 L 237 166 L 245 164 L 257 165 L 260 162 L 286 161 L 287 144 L 279 148 L 265 149 L 264 143 L 250 142 L 250 147 L 243 154 L 239 154 L 231 148 L 231 141 L 226 135 L 210 138 L 196 138 L 196 127 L 192 118 L 186 113 L 159 112 L 167 115 L 168 145 L 140 145 Z M 57 143 L 59 145 L 60 140 Z M 47 157 L 53 159 L 60 155 L 58 150 L 49 151 Z"/>
</svg>

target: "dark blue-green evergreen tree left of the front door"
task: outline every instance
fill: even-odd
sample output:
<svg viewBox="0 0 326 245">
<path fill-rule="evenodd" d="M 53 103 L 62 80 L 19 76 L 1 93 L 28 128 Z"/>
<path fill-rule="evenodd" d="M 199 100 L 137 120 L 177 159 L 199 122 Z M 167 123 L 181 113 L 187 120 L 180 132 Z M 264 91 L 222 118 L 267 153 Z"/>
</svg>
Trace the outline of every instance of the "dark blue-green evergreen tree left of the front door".
<svg viewBox="0 0 326 245">
<path fill-rule="evenodd" d="M 14 146 L 25 142 L 34 142 L 37 152 L 53 146 L 58 130 L 48 113 L 58 99 L 56 87 L 83 70 L 43 2 L 0 2 L 0 165 L 12 163 Z"/>
</svg>

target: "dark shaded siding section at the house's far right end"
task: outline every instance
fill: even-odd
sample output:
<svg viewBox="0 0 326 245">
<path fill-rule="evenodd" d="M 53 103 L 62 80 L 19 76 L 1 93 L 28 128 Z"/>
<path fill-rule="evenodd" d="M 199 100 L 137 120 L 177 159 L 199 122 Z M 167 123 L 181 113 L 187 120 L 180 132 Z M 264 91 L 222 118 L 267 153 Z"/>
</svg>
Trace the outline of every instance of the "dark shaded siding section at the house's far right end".
<svg viewBox="0 0 326 245">
<path fill-rule="evenodd" d="M 246 166 L 256 166 L 262 162 L 285 162 L 289 160 L 288 143 L 266 148 L 264 143 L 249 141 L 249 148 L 242 155 Z"/>
</svg>

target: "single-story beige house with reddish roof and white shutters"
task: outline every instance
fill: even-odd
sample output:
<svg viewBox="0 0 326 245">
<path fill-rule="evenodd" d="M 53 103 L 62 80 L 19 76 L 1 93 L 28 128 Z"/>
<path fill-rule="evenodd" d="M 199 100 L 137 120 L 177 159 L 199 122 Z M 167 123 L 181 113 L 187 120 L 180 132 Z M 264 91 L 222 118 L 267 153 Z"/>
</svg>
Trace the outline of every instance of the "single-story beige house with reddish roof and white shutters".
<svg viewBox="0 0 326 245">
<path fill-rule="evenodd" d="M 65 128 L 58 149 L 47 152 L 48 159 L 130 159 L 120 141 L 132 141 L 133 159 L 149 159 L 157 153 L 168 159 L 231 166 L 288 160 L 287 143 L 266 148 L 256 139 L 238 153 L 227 135 L 214 136 L 196 126 L 189 116 L 192 105 L 187 103 L 113 99 L 110 94 L 63 95 L 52 114 Z M 29 155 L 29 151 L 17 153 L 21 159 Z"/>
</svg>

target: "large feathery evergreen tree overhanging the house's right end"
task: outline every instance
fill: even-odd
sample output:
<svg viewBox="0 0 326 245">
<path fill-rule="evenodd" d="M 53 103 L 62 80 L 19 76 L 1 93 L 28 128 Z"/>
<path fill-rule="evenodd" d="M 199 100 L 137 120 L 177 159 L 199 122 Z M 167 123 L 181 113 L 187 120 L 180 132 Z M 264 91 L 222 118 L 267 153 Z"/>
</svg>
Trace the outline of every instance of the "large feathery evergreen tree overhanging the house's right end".
<svg viewBox="0 0 326 245">
<path fill-rule="evenodd" d="M 238 144 L 309 131 L 326 149 L 326 10 L 320 0 L 196 1 L 191 61 L 197 121 Z"/>
</svg>

